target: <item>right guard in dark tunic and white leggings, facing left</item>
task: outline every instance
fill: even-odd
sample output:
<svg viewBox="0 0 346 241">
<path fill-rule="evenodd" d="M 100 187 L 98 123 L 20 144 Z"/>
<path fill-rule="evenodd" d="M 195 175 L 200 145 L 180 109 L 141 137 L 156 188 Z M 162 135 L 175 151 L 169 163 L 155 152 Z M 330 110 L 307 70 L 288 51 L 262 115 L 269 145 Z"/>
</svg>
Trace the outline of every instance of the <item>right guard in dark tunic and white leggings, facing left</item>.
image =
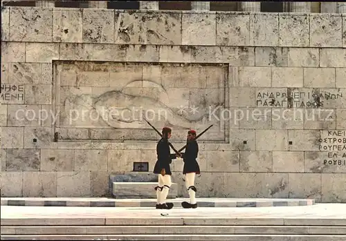
<svg viewBox="0 0 346 241">
<path fill-rule="evenodd" d="M 188 189 L 190 202 L 182 202 L 181 206 L 183 206 L 184 209 L 196 209 L 197 208 L 197 202 L 196 202 L 196 192 L 197 189 L 194 186 L 194 179 L 196 177 L 196 174 L 201 173 L 199 169 L 199 164 L 197 162 L 197 156 L 199 152 L 199 146 L 197 144 L 196 140 L 196 131 L 191 130 L 188 131 L 188 141 L 186 144 L 186 150 L 183 154 L 183 174 L 185 175 L 185 186 L 186 189 Z"/>
</svg>

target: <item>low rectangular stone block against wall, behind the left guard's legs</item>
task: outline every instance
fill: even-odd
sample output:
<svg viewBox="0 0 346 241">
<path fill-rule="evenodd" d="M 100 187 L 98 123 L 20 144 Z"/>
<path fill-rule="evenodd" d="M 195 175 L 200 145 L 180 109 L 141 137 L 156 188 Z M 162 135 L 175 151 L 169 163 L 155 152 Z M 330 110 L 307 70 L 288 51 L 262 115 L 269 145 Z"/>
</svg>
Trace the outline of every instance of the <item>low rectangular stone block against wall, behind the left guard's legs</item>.
<svg viewBox="0 0 346 241">
<path fill-rule="evenodd" d="M 154 188 L 157 182 L 113 182 L 113 197 L 115 198 L 156 198 Z M 178 185 L 172 183 L 167 198 L 178 196 Z"/>
</svg>

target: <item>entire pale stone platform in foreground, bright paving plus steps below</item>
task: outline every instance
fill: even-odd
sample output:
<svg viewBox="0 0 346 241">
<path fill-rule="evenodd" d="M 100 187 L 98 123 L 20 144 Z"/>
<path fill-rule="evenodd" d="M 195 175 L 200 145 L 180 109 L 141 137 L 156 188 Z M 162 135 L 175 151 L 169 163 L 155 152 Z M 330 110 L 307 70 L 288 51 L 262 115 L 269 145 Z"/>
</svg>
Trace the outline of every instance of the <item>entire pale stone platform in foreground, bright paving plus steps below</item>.
<svg viewBox="0 0 346 241">
<path fill-rule="evenodd" d="M 346 241 L 346 204 L 168 211 L 1 206 L 1 240 L 29 239 Z"/>
</svg>

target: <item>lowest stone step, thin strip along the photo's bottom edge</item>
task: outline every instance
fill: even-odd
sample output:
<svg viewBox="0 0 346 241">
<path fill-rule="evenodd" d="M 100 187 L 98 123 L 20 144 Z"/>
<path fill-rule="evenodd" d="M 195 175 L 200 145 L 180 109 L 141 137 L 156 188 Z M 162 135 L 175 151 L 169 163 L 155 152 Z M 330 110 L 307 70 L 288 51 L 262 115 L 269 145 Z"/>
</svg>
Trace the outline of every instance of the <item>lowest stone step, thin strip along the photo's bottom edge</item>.
<svg viewBox="0 0 346 241">
<path fill-rule="evenodd" d="M 227 241 L 346 241 L 346 235 L 1 235 L 1 240 L 227 240 Z"/>
</svg>

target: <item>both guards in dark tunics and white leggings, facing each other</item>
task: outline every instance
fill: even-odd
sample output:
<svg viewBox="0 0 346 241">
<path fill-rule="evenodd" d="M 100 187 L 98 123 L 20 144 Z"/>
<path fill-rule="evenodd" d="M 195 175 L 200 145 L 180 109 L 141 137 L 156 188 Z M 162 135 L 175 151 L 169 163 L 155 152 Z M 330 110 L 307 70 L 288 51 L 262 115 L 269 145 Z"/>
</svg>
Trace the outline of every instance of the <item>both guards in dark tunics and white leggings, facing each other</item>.
<svg viewBox="0 0 346 241">
<path fill-rule="evenodd" d="M 199 146 L 196 140 L 196 131 L 188 131 L 188 142 L 186 144 L 185 153 L 181 156 L 170 153 L 170 145 L 168 139 L 172 135 L 172 130 L 168 127 L 162 129 L 162 138 L 158 141 L 156 146 L 157 162 L 154 167 L 154 173 L 158 174 L 158 186 L 155 187 L 157 204 L 156 209 L 172 209 L 174 204 L 166 202 L 170 186 L 172 185 L 170 164 L 172 159 L 176 157 L 183 158 L 184 167 L 183 174 L 185 175 L 185 186 L 188 189 L 190 202 L 182 202 L 181 206 L 184 209 L 196 209 L 196 187 L 194 186 L 194 177 L 200 173 L 199 164 L 197 163 L 197 155 Z"/>
</svg>

